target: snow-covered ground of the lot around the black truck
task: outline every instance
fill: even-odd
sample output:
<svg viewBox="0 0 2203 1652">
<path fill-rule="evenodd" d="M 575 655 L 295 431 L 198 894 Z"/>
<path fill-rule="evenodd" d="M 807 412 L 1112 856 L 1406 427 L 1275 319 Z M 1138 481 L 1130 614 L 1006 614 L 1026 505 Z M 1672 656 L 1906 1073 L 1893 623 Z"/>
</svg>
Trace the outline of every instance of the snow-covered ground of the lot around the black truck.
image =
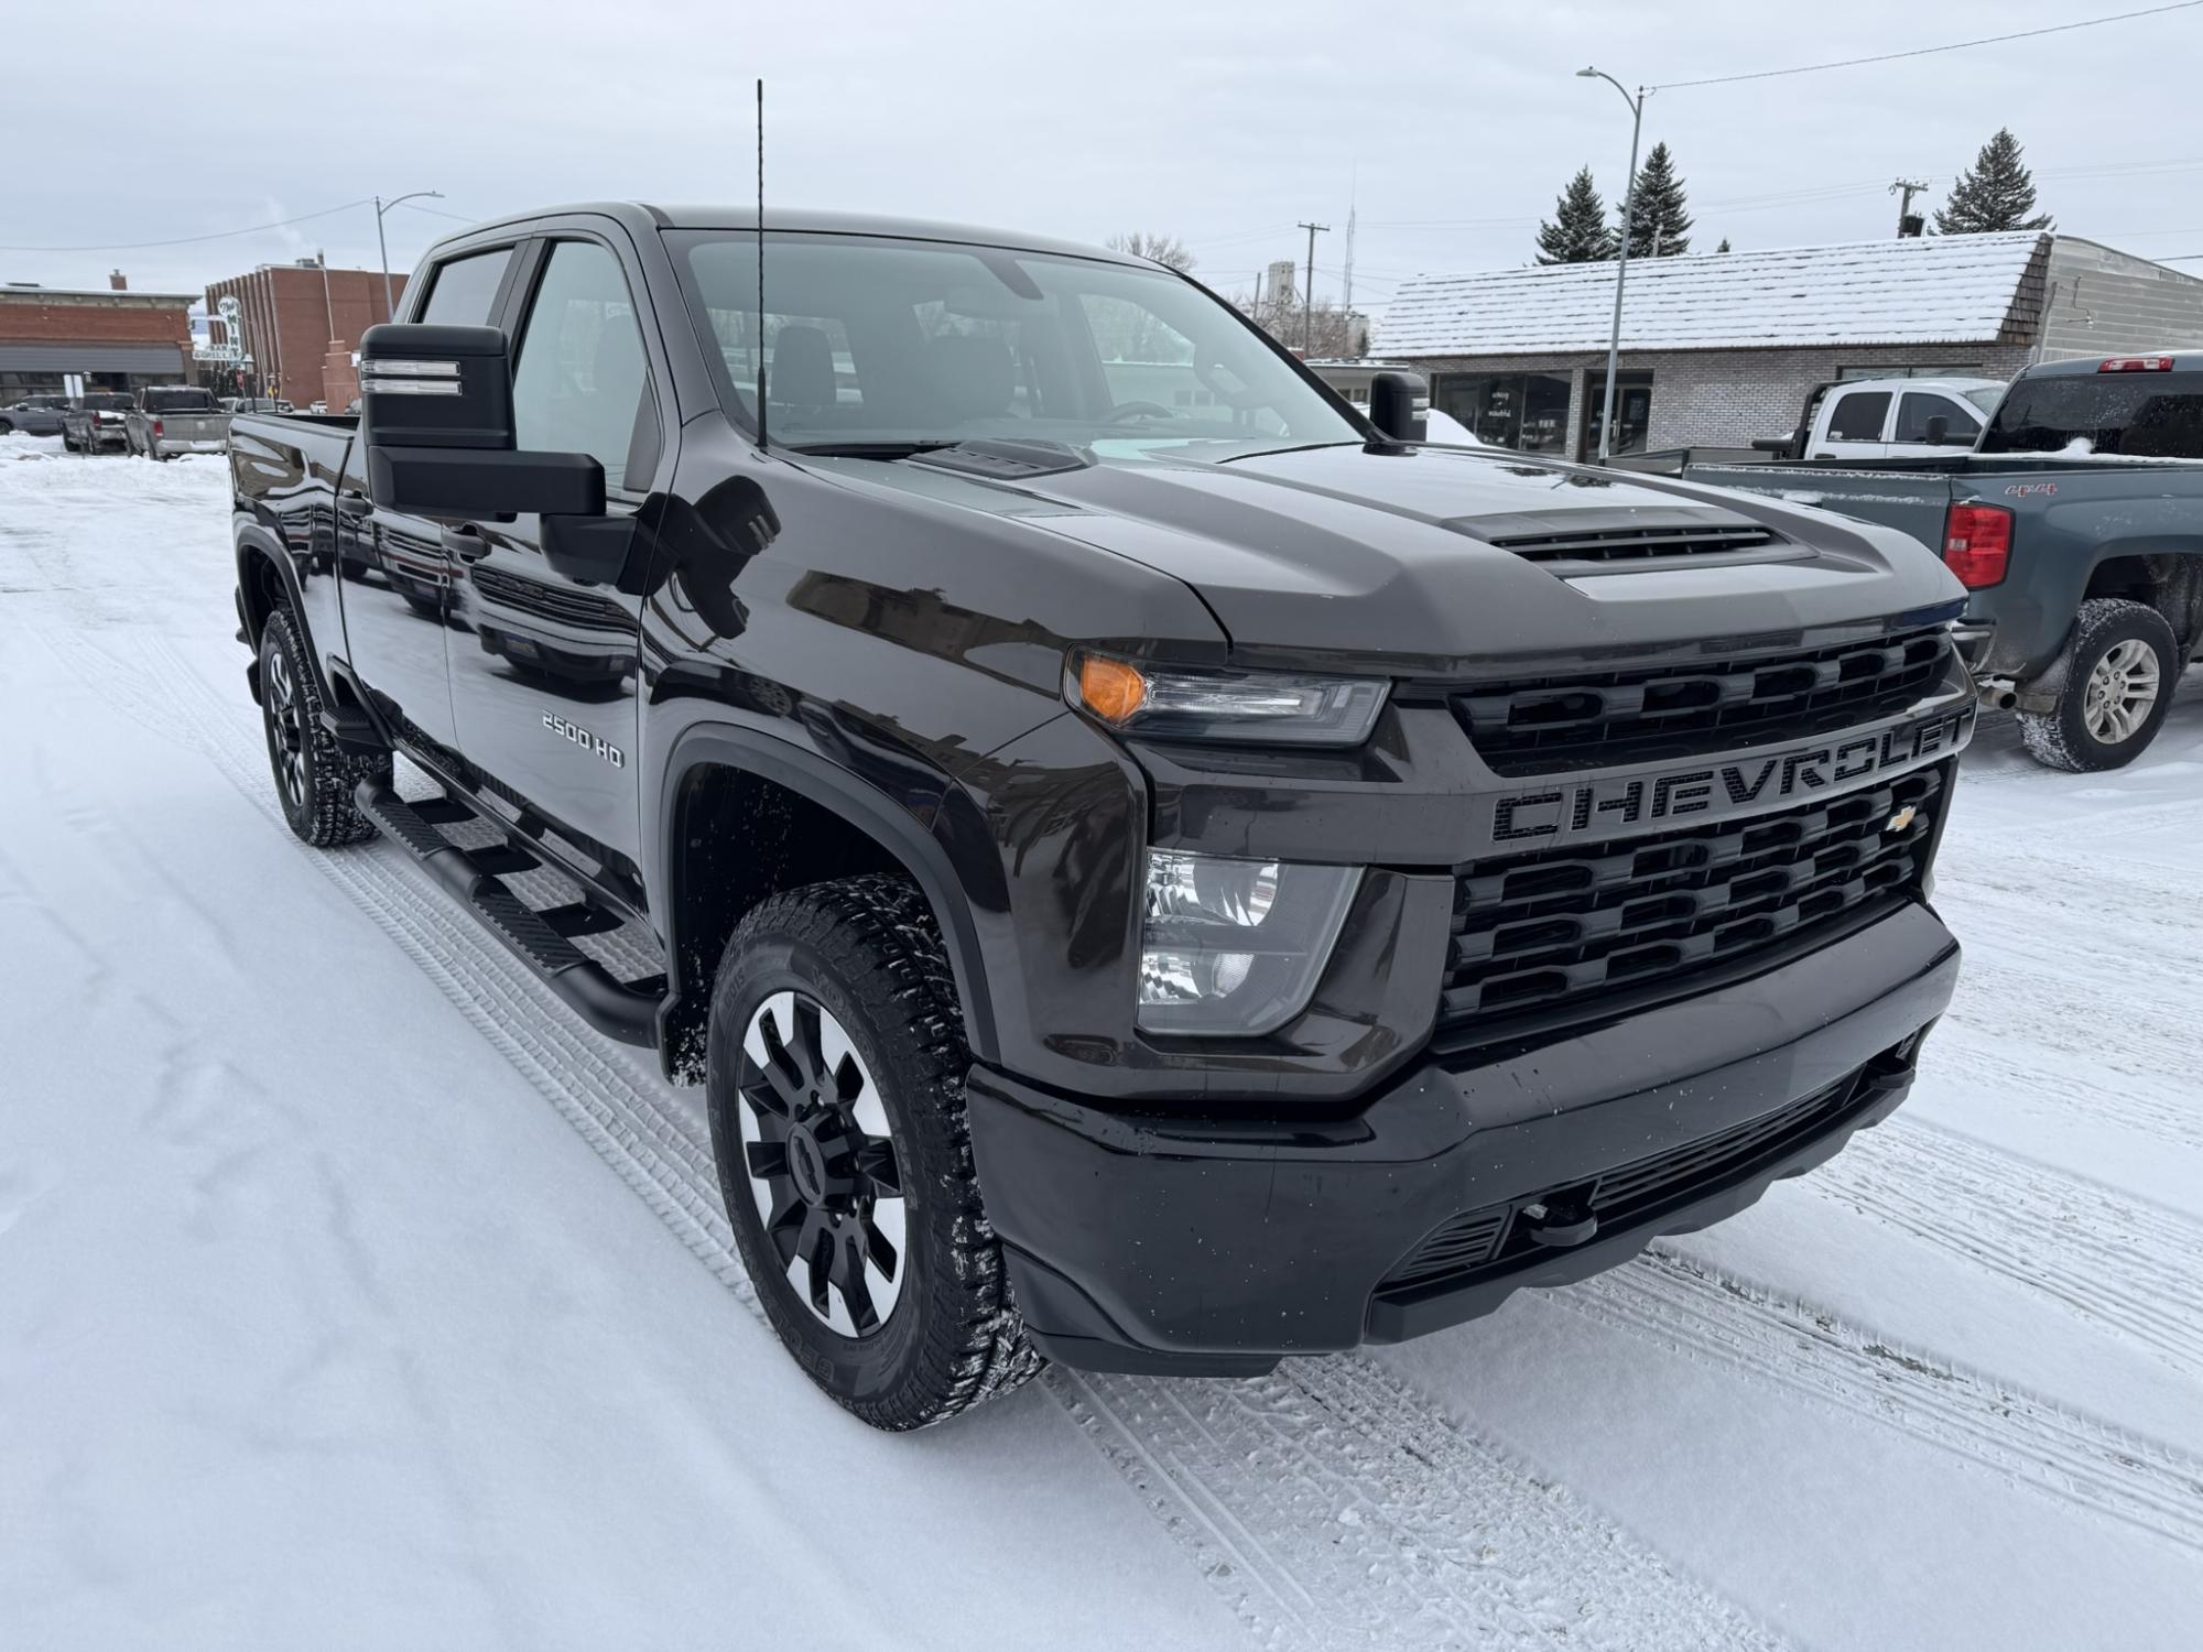
<svg viewBox="0 0 2203 1652">
<path fill-rule="evenodd" d="M 1985 727 L 1925 1077 L 1738 1220 L 886 1438 L 696 1095 L 282 830 L 229 582 L 218 458 L 0 438 L 0 1645 L 2203 1643 L 2203 683 Z"/>
</svg>

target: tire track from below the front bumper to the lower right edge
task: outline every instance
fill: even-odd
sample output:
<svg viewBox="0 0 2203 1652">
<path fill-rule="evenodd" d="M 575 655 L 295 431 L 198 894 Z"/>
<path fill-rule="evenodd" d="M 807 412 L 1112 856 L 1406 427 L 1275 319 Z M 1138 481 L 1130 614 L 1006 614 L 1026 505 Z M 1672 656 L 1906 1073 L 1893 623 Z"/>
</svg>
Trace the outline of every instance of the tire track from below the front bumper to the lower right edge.
<svg viewBox="0 0 2203 1652">
<path fill-rule="evenodd" d="M 2203 1460 L 1672 1251 L 1551 1300 L 1895 1430 L 1976 1471 L 2203 1553 Z"/>
</svg>

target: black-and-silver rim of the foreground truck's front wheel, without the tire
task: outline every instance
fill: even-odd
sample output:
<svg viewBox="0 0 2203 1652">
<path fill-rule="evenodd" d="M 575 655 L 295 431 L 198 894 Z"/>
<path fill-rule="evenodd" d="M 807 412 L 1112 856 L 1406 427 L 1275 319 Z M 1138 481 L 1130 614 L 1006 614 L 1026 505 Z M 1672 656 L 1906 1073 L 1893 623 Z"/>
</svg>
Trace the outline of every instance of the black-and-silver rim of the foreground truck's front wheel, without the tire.
<svg viewBox="0 0 2203 1652">
<path fill-rule="evenodd" d="M 778 991 L 742 1031 L 742 1167 L 795 1295 L 844 1337 L 879 1330 L 903 1293 L 905 1220 L 894 1130 L 833 1013 Z"/>
</svg>

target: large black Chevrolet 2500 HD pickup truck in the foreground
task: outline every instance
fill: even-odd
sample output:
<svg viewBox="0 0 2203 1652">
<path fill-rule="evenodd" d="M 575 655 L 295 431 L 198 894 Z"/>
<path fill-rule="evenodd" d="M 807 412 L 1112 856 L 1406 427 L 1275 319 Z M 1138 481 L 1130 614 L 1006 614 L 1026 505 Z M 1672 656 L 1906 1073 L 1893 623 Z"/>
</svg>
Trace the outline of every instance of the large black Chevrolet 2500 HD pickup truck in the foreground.
<svg viewBox="0 0 2203 1652">
<path fill-rule="evenodd" d="M 1901 1101 L 1974 722 L 1912 540 L 1423 447 L 1139 258 L 762 240 L 432 249 L 357 421 L 236 419 L 238 612 L 297 835 L 705 1086 L 837 1401 L 1412 1337 Z"/>
</svg>

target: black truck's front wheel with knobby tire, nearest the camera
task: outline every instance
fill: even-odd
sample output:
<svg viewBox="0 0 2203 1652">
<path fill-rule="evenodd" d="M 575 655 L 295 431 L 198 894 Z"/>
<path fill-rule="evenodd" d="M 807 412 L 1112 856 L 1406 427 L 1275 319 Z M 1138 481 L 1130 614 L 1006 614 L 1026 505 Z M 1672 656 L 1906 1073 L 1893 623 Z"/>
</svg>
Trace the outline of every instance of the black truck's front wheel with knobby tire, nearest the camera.
<svg viewBox="0 0 2203 1652">
<path fill-rule="evenodd" d="M 1040 1370 L 987 1225 L 941 932 L 910 883 L 760 901 L 712 991 L 712 1154 L 742 1264 L 804 1372 L 912 1430 Z"/>
</svg>

